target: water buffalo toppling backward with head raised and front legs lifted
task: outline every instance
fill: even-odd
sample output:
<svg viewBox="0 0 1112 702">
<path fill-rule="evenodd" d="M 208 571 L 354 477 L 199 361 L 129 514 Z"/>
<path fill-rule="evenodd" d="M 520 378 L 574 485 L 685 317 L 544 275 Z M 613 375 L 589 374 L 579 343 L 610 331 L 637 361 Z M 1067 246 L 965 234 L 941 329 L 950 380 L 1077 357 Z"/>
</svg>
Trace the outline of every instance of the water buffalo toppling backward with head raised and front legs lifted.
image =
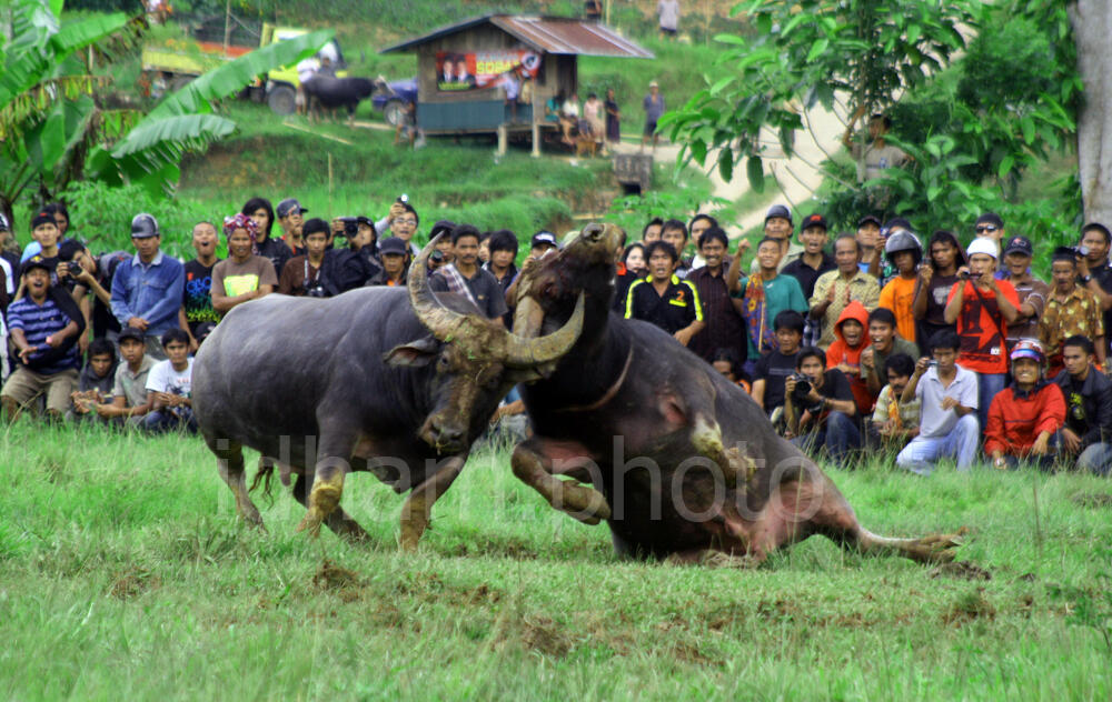
<svg viewBox="0 0 1112 702">
<path fill-rule="evenodd" d="M 955 535 L 864 529 L 741 388 L 661 329 L 612 314 L 620 241 L 590 224 L 523 273 L 515 333 L 559 327 L 580 294 L 586 315 L 555 371 L 523 390 L 535 434 L 514 451 L 519 479 L 576 519 L 607 520 L 615 549 L 634 556 L 758 563 L 818 533 L 863 552 L 953 559 Z"/>
</svg>

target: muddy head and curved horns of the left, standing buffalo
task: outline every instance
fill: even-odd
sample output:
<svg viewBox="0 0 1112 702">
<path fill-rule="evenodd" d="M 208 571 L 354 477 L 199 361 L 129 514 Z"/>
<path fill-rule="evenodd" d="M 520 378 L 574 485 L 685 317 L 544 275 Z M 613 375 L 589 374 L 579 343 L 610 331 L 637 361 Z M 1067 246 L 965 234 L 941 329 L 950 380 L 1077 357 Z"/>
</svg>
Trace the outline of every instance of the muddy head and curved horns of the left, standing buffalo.
<svg viewBox="0 0 1112 702">
<path fill-rule="evenodd" d="M 440 453 L 459 453 L 476 439 L 471 428 L 483 425 L 510 388 L 542 378 L 544 369 L 575 344 L 583 328 L 583 302 L 566 324 L 535 339 L 515 335 L 473 305 L 441 303 L 428 287 L 427 273 L 439 238 L 409 268 L 409 300 L 431 335 L 395 347 L 385 360 L 391 365 L 433 365 L 429 387 L 423 390 L 431 410 L 418 433 Z"/>
</svg>

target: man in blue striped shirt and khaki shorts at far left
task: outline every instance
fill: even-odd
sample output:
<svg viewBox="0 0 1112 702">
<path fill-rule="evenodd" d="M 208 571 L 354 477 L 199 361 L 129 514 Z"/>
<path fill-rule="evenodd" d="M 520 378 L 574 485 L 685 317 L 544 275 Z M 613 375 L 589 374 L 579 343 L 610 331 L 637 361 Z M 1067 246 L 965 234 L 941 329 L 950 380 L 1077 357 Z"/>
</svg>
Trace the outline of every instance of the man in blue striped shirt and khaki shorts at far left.
<svg viewBox="0 0 1112 702">
<path fill-rule="evenodd" d="M 19 368 L 0 390 L 0 402 L 9 420 L 28 402 L 47 395 L 47 413 L 60 420 L 78 380 L 77 339 L 83 319 L 68 293 L 52 294 L 50 268 L 40 259 L 23 264 L 27 293 L 8 308 L 8 325 Z"/>
</svg>

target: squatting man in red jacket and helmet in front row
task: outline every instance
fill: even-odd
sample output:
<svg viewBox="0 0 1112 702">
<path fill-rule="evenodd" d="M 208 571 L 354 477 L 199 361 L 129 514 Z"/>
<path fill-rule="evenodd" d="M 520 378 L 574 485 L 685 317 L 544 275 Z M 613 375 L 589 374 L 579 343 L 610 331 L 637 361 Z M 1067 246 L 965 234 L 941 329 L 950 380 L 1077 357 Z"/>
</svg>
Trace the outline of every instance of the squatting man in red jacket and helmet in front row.
<svg viewBox="0 0 1112 702">
<path fill-rule="evenodd" d="M 1050 440 L 1065 423 L 1065 398 L 1058 384 L 1042 377 L 1046 357 L 1034 339 L 1021 339 L 1012 349 L 1012 384 L 992 400 L 984 452 L 997 469 L 1021 461 L 1049 467 Z"/>
</svg>

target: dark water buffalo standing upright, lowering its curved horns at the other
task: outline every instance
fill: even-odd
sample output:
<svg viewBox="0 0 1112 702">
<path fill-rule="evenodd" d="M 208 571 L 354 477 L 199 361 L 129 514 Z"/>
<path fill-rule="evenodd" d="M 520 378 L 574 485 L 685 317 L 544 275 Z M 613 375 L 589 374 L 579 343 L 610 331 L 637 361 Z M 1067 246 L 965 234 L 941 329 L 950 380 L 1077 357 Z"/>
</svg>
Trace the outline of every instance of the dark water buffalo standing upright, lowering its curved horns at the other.
<svg viewBox="0 0 1112 702">
<path fill-rule="evenodd" d="M 193 362 L 193 409 L 245 520 L 262 524 L 245 480 L 246 445 L 267 457 L 260 473 L 268 482 L 275 462 L 297 474 L 294 494 L 308 508 L 298 530 L 312 535 L 325 521 L 345 536 L 366 536 L 339 508 L 349 470 L 411 490 L 401 545 L 416 548 L 499 400 L 570 348 L 582 308 L 556 333 L 519 339 L 466 299 L 434 295 L 426 261 L 435 243 L 414 262 L 408 294 L 268 295 L 234 309 L 205 341 Z"/>
</svg>

